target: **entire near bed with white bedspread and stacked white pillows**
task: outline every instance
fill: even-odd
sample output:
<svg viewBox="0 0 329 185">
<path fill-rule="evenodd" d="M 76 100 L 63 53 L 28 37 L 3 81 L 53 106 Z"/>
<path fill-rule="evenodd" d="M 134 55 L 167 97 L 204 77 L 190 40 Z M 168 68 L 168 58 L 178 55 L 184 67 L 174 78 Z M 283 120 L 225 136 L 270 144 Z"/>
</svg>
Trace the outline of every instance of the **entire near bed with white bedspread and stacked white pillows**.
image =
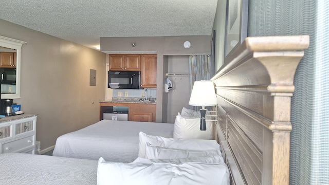
<svg viewBox="0 0 329 185">
<path fill-rule="evenodd" d="M 139 145 L 145 145 L 139 152 L 145 156 L 131 163 L 102 157 L 0 154 L 1 184 L 229 184 L 229 171 L 215 140 L 173 139 L 142 132 L 139 136 Z"/>
</svg>

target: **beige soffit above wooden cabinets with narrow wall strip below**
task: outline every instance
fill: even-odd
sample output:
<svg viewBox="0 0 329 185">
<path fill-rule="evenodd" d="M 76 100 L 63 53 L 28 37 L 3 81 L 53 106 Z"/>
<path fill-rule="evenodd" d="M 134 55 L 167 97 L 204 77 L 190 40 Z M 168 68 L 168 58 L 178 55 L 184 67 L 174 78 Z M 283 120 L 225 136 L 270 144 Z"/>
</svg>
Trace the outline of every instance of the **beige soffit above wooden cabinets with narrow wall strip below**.
<svg viewBox="0 0 329 185">
<path fill-rule="evenodd" d="M 184 48 L 185 41 L 191 42 L 189 49 Z M 136 43 L 136 47 L 131 46 L 132 42 Z M 168 65 L 168 58 L 165 57 L 164 61 L 163 56 L 210 54 L 211 35 L 101 38 L 101 50 L 106 53 L 157 53 L 156 122 L 167 122 L 168 98 L 164 83 L 168 68 L 163 66 Z"/>
</svg>

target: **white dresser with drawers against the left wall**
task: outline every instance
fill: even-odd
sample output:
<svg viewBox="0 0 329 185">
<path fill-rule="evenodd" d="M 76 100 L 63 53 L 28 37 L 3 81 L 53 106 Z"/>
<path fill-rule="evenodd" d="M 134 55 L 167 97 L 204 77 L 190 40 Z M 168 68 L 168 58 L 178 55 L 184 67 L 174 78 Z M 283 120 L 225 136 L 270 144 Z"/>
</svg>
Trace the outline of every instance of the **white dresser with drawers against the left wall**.
<svg viewBox="0 0 329 185">
<path fill-rule="evenodd" d="M 0 154 L 35 154 L 37 115 L 17 115 L 0 119 Z"/>
</svg>

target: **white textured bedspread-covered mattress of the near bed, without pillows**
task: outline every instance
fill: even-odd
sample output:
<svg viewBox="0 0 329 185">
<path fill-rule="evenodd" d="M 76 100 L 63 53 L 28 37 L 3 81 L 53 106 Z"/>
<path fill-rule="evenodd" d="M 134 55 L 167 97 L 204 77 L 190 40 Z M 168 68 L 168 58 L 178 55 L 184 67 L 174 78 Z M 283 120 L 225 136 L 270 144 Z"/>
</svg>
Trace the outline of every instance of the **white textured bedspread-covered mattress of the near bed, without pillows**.
<svg viewBox="0 0 329 185">
<path fill-rule="evenodd" d="M 97 160 L 0 154 L 0 184 L 97 184 Z"/>
</svg>

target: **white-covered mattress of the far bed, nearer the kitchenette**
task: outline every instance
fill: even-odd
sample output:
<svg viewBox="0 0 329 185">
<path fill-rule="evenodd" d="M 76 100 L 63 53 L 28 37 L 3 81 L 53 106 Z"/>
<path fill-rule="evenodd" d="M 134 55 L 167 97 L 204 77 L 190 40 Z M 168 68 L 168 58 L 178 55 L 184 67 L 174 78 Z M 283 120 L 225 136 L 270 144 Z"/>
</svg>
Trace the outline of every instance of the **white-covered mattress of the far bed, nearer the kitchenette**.
<svg viewBox="0 0 329 185">
<path fill-rule="evenodd" d="M 138 157 L 139 132 L 172 137 L 174 124 L 101 120 L 57 138 L 53 156 L 132 162 Z"/>
</svg>

